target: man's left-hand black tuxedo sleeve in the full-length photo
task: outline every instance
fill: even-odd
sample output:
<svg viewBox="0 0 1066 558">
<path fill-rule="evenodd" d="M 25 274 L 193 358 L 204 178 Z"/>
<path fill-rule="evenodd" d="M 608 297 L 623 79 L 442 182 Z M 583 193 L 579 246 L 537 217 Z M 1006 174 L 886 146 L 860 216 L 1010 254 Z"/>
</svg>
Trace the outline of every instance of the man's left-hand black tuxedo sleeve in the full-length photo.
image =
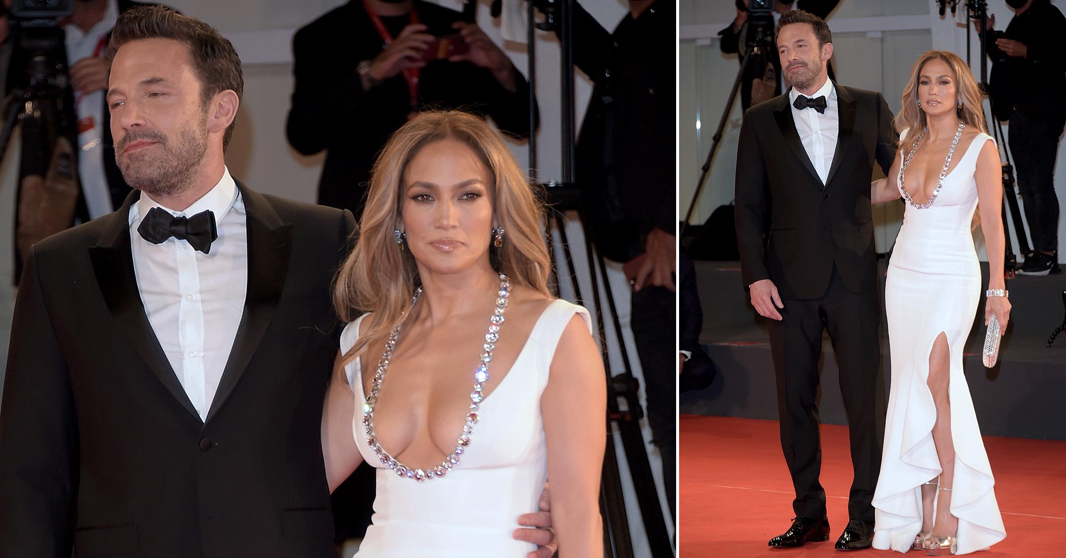
<svg viewBox="0 0 1066 558">
<path fill-rule="evenodd" d="M 770 278 L 766 270 L 766 245 L 763 236 L 769 223 L 770 184 L 766 180 L 765 161 L 759 149 L 752 126 L 752 112 L 744 114 L 737 149 L 737 206 L 733 209 L 737 226 L 737 247 L 740 250 L 741 275 L 744 289 L 752 283 Z"/>
</svg>

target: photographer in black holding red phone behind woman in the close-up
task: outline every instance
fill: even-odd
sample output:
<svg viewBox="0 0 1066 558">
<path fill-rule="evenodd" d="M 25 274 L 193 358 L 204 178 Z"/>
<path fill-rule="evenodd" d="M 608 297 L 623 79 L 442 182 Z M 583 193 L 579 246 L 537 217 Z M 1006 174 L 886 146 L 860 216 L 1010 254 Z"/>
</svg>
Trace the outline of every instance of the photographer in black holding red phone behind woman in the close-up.
<svg viewBox="0 0 1066 558">
<path fill-rule="evenodd" d="M 305 155 L 326 150 L 319 203 L 358 218 L 375 155 L 422 109 L 490 116 L 529 136 L 529 83 L 461 16 L 422 0 L 351 0 L 296 32 L 286 131 Z"/>
</svg>

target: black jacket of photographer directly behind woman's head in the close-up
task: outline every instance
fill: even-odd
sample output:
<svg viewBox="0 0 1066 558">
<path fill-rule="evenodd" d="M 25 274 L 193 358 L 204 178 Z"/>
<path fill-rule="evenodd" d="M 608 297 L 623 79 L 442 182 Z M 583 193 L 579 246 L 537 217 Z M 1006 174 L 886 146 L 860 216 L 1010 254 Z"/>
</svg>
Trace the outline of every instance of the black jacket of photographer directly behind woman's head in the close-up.
<svg viewBox="0 0 1066 558">
<path fill-rule="evenodd" d="M 462 20 L 462 14 L 421 0 L 415 0 L 414 10 L 429 33 L 438 36 L 455 33 L 451 26 Z M 386 24 L 390 20 L 382 19 Z M 286 125 L 289 143 L 305 155 L 326 150 L 319 203 L 358 216 L 377 153 L 411 112 L 407 82 L 401 73 L 369 92 L 362 89 L 356 66 L 385 49 L 359 0 L 300 29 L 292 50 L 295 87 Z M 469 62 L 431 62 L 421 69 L 419 106 L 487 115 L 503 132 L 529 136 L 529 83 L 517 69 L 515 76 L 518 91 L 511 93 L 489 70 Z"/>
</svg>

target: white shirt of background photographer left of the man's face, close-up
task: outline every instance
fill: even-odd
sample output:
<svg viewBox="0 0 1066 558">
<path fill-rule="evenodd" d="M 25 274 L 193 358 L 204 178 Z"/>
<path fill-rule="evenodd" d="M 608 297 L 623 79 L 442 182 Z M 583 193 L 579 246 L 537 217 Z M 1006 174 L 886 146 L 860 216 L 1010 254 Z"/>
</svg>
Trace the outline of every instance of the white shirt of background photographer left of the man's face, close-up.
<svg viewBox="0 0 1066 558">
<path fill-rule="evenodd" d="M 75 64 L 79 60 L 103 58 L 103 47 L 108 33 L 118 20 L 118 1 L 108 0 L 108 7 L 100 19 L 88 31 L 68 23 L 63 27 L 67 61 Z M 75 110 L 78 113 L 78 176 L 85 196 L 88 217 L 95 219 L 115 211 L 111 203 L 111 187 L 103 170 L 103 89 L 87 95 L 75 93 Z"/>
</svg>

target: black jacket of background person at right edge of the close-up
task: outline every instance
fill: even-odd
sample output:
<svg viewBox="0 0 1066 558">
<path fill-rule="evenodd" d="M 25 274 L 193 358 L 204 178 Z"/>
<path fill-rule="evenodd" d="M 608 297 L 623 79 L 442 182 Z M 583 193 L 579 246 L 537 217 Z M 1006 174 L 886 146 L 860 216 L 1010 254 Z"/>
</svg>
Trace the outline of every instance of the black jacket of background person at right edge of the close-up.
<svg viewBox="0 0 1066 558">
<path fill-rule="evenodd" d="M 657 0 L 608 33 L 574 5 L 575 64 L 594 82 L 576 147 L 575 176 L 597 248 L 625 262 L 644 235 L 677 226 L 673 1 Z"/>
</svg>

